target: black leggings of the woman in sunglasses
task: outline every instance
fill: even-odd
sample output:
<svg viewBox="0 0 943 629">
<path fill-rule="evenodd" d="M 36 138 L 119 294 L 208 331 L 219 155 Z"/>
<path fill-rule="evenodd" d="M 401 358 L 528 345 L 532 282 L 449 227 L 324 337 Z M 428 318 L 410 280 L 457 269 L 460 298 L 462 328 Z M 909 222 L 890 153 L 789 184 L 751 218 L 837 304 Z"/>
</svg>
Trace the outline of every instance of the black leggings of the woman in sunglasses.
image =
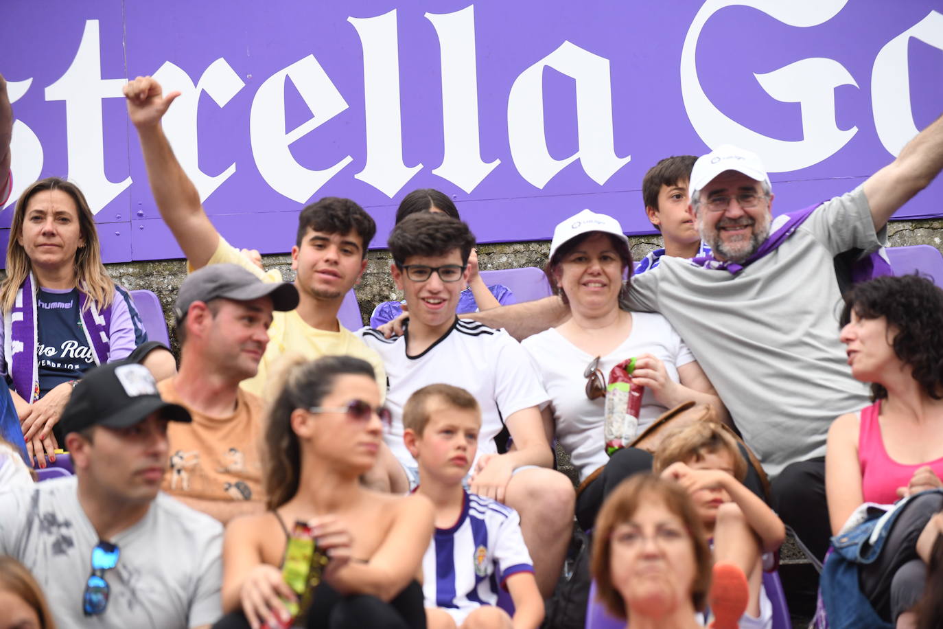
<svg viewBox="0 0 943 629">
<path fill-rule="evenodd" d="M 307 629 L 425 629 L 422 588 L 412 581 L 389 603 L 375 596 L 341 596 L 322 583 L 307 609 Z M 248 629 L 241 611 L 227 614 L 213 629 Z"/>
</svg>

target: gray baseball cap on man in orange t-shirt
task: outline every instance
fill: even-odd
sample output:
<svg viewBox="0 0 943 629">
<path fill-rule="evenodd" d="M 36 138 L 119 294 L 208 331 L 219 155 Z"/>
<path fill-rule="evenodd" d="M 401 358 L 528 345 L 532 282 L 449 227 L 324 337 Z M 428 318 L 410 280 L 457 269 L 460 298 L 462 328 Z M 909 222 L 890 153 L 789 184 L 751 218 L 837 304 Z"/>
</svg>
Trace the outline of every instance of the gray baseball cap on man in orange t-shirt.
<svg viewBox="0 0 943 629">
<path fill-rule="evenodd" d="M 210 264 L 190 273 L 180 285 L 174 304 L 174 317 L 177 323 L 183 321 L 193 302 L 220 298 L 249 302 L 265 296 L 272 298 L 275 310 L 293 310 L 298 307 L 298 290 L 289 282 L 263 282 L 238 264 Z"/>
</svg>

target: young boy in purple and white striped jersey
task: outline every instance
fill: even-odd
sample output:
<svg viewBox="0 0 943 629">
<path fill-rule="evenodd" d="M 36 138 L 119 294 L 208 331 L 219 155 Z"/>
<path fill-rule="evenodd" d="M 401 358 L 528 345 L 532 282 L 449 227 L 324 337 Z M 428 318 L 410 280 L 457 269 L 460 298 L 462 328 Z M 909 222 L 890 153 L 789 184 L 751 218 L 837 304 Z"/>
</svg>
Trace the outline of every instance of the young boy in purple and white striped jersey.
<svg viewBox="0 0 943 629">
<path fill-rule="evenodd" d="M 436 534 L 422 559 L 430 629 L 536 629 L 543 599 L 517 512 L 462 487 L 478 449 L 477 401 L 465 389 L 428 385 L 409 397 L 403 423 L 420 468 L 416 490 L 436 505 Z M 513 619 L 496 606 L 499 587 L 511 594 Z"/>
</svg>

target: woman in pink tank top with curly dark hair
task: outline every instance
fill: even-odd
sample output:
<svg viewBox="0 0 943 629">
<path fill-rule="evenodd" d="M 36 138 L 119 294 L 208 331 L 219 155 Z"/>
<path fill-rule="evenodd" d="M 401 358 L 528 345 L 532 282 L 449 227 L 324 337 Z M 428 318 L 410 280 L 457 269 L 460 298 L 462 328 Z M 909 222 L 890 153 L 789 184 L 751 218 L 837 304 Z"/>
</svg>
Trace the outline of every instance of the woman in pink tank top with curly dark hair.
<svg viewBox="0 0 943 629">
<path fill-rule="evenodd" d="M 834 534 L 858 505 L 943 488 L 943 290 L 918 275 L 879 277 L 845 301 L 841 340 L 852 375 L 871 383 L 874 404 L 829 429 L 825 491 Z M 910 501 L 878 560 L 859 566 L 862 592 L 898 627 L 916 626 L 911 609 L 941 509 L 939 492 Z"/>
</svg>

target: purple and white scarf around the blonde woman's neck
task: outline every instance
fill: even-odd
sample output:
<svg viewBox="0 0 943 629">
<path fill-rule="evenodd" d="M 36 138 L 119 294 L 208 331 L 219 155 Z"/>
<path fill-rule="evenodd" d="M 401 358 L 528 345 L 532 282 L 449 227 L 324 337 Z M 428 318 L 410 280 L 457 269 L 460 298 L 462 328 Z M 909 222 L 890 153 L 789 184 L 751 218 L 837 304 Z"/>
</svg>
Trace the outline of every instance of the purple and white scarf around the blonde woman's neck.
<svg viewBox="0 0 943 629">
<path fill-rule="evenodd" d="M 36 288 L 33 273 L 29 273 L 23 286 L 16 293 L 13 309 L 4 318 L 5 335 L 4 356 L 7 358 L 7 372 L 13 380 L 13 389 L 29 404 L 40 397 L 39 367 L 36 359 Z M 28 297 L 27 297 L 28 296 Z M 108 361 L 110 345 L 108 328 L 111 323 L 111 306 L 99 313 L 98 307 L 86 303 L 89 296 L 78 291 L 78 308 L 81 313 L 81 327 L 89 342 L 95 364 Z"/>
</svg>

